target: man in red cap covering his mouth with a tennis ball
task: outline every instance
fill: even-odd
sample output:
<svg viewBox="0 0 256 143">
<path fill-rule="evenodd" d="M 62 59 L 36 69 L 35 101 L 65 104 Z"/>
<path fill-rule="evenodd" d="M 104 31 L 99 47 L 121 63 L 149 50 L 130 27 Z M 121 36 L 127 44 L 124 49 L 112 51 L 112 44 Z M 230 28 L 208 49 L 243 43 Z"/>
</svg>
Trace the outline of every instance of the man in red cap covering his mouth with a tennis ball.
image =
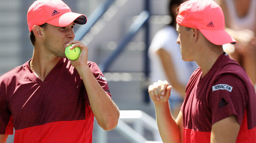
<svg viewBox="0 0 256 143">
<path fill-rule="evenodd" d="M 61 0 L 37 0 L 28 9 L 32 59 L 0 76 L 0 143 L 15 129 L 14 143 L 92 143 L 93 120 L 116 127 L 119 110 L 103 74 L 74 41 L 73 27 L 86 16 Z M 65 47 L 81 48 L 76 60 Z"/>
</svg>

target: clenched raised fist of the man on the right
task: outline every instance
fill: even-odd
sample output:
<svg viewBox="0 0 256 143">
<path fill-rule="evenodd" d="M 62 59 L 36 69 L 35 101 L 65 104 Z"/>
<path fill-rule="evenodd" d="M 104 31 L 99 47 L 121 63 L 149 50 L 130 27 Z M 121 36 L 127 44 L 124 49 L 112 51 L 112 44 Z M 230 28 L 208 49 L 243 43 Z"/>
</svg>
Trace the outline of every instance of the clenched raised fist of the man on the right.
<svg viewBox="0 0 256 143">
<path fill-rule="evenodd" d="M 155 82 L 149 86 L 148 92 L 151 99 L 155 101 L 165 102 L 170 97 L 170 91 L 172 86 L 169 85 L 168 81 Z"/>
</svg>

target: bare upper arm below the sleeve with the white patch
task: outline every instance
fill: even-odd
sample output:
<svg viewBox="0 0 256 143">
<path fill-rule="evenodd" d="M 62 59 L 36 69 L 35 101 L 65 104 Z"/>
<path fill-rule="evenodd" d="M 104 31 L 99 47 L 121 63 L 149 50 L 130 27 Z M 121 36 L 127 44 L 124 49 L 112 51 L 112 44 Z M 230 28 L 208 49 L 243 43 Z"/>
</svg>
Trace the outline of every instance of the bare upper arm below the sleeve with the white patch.
<svg viewBox="0 0 256 143">
<path fill-rule="evenodd" d="M 211 143 L 235 143 L 239 130 L 235 115 L 217 121 L 211 128 Z"/>
</svg>

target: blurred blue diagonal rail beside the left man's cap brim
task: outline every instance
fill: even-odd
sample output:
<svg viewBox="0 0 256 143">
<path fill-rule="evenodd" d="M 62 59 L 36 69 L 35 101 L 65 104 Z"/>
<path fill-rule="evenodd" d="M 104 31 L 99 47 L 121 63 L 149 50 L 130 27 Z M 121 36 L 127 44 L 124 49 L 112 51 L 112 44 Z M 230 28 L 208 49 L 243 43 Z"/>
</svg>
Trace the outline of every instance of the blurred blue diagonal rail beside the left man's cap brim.
<svg viewBox="0 0 256 143">
<path fill-rule="evenodd" d="M 78 30 L 76 30 L 75 40 L 81 40 L 87 32 L 93 27 L 93 25 L 98 21 L 98 19 L 103 16 L 108 8 L 112 5 L 115 0 L 106 0 L 104 3 L 101 3 L 88 17 L 86 24 L 81 25 Z"/>
</svg>

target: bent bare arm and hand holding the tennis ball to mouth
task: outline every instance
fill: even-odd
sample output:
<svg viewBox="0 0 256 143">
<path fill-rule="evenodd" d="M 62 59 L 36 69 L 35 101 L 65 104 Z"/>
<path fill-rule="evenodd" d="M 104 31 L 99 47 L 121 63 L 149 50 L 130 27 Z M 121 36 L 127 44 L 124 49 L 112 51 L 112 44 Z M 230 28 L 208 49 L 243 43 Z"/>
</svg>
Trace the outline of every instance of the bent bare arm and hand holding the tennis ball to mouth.
<svg viewBox="0 0 256 143">
<path fill-rule="evenodd" d="M 114 129 L 118 123 L 119 109 L 104 89 L 102 89 L 101 85 L 93 76 L 90 67 L 87 65 L 87 46 L 80 41 L 70 41 L 69 44 L 73 44 L 71 49 L 75 47 L 80 47 L 81 49 L 79 58 L 71 60 L 71 64 L 82 77 L 90 102 L 90 108 L 92 109 L 98 124 L 104 130 Z"/>
</svg>

